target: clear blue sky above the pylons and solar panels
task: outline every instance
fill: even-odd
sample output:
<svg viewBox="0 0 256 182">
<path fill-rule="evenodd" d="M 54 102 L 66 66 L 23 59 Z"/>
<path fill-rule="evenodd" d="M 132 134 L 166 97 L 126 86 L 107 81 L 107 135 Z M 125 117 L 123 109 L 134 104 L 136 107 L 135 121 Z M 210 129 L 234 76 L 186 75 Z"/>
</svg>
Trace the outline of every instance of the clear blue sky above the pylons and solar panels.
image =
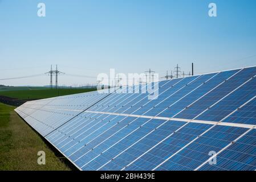
<svg viewBox="0 0 256 182">
<path fill-rule="evenodd" d="M 46 17 L 37 16 L 38 3 Z M 217 17 L 208 16 L 210 2 Z M 256 65 L 255 0 L 0 0 L 0 78 L 60 71 L 97 76 L 115 68 L 164 76 L 178 63 L 206 73 Z M 96 82 L 61 76 L 60 85 Z M 0 81 L 48 85 L 47 76 Z"/>
</svg>

